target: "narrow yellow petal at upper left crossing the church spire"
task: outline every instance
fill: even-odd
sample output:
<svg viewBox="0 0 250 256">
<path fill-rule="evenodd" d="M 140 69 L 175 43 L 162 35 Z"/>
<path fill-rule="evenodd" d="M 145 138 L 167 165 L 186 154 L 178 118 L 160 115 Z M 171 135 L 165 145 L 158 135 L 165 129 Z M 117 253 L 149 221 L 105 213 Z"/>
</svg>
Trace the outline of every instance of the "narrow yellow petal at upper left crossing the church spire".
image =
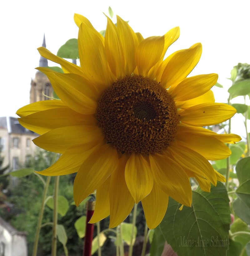
<svg viewBox="0 0 250 256">
<path fill-rule="evenodd" d="M 80 67 L 78 67 L 77 65 L 75 65 L 71 62 L 68 62 L 67 60 L 65 60 L 63 58 L 60 58 L 60 57 L 54 55 L 53 53 L 48 51 L 46 48 L 39 47 L 39 48 L 37 48 L 37 50 L 41 54 L 42 57 L 44 57 L 48 60 L 51 60 L 55 63 L 60 64 L 64 73 L 75 73 L 80 76 L 84 75 L 83 70 Z"/>
</svg>

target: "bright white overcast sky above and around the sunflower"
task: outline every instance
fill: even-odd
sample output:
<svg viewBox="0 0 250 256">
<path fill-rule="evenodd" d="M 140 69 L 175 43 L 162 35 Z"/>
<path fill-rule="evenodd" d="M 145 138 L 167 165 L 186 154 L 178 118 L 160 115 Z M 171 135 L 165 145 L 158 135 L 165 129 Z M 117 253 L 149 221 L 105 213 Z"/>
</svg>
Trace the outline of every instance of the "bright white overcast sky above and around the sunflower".
<svg viewBox="0 0 250 256">
<path fill-rule="evenodd" d="M 225 89 L 214 88 L 217 102 L 227 101 L 230 72 L 239 62 L 250 64 L 249 0 L 12 0 L 0 10 L 1 100 L 0 117 L 13 116 L 29 104 L 31 79 L 39 63 L 37 48 L 45 33 L 46 47 L 56 54 L 70 38 L 77 38 L 74 13 L 87 17 L 101 31 L 111 6 L 115 15 L 129 21 L 144 38 L 180 27 L 179 39 L 167 55 L 202 43 L 202 57 L 191 75 L 218 73 Z M 49 66 L 55 66 L 49 62 Z"/>
</svg>

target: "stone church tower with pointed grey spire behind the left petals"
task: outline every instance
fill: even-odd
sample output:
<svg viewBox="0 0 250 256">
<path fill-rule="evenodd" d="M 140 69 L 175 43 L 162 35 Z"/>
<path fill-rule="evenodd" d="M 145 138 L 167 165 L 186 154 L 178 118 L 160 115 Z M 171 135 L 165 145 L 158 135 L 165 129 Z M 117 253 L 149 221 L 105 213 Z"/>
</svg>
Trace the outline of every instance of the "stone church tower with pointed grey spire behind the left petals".
<svg viewBox="0 0 250 256">
<path fill-rule="evenodd" d="M 46 48 L 45 35 L 43 35 L 42 46 Z M 39 67 L 47 66 L 48 60 L 41 56 L 39 60 Z M 53 97 L 53 88 L 47 76 L 42 72 L 37 71 L 35 78 L 31 80 L 30 84 L 30 103 L 49 100 L 50 98 L 45 95 Z"/>
</svg>

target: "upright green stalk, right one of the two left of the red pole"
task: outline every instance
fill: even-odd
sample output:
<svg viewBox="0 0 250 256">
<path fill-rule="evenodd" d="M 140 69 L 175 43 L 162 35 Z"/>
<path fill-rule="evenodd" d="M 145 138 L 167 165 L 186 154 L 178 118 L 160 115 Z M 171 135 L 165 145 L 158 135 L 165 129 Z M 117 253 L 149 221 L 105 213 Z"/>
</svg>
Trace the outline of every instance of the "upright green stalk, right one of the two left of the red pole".
<svg viewBox="0 0 250 256">
<path fill-rule="evenodd" d="M 52 231 L 52 249 L 51 256 L 56 256 L 57 254 L 57 219 L 58 219 L 58 188 L 59 188 L 59 177 L 55 177 L 55 187 L 53 196 L 53 231 Z"/>
</svg>

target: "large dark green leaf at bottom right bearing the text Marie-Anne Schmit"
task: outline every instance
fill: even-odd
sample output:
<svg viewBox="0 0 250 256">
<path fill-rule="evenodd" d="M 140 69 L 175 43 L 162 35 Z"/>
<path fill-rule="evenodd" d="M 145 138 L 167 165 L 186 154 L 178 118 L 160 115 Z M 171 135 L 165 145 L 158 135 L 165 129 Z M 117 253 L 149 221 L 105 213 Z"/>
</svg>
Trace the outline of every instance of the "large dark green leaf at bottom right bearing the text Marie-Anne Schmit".
<svg viewBox="0 0 250 256">
<path fill-rule="evenodd" d="M 211 192 L 199 187 L 192 192 L 192 207 L 183 207 L 169 198 L 160 228 L 178 256 L 226 255 L 231 222 L 227 189 L 218 182 Z"/>
</svg>

